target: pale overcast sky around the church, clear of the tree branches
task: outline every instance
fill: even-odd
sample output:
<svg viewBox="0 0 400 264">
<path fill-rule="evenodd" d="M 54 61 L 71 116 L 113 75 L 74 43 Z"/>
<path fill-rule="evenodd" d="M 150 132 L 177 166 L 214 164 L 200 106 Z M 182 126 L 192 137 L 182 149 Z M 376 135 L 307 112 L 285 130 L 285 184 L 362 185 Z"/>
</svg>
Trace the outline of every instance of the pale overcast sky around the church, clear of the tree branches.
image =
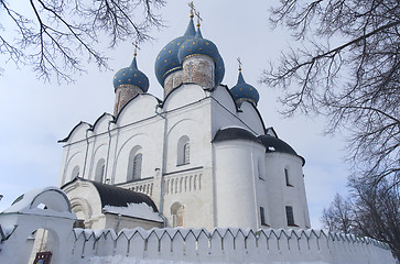
<svg viewBox="0 0 400 264">
<path fill-rule="evenodd" d="M 277 101 L 282 95 L 280 90 L 258 82 L 262 69 L 270 62 L 277 62 L 279 54 L 292 43 L 290 34 L 284 29 L 271 30 L 268 23 L 270 1 L 202 0 L 194 3 L 203 18 L 203 36 L 217 45 L 224 58 L 223 84 L 236 85 L 237 57 L 240 57 L 245 80 L 260 94 L 258 109 L 266 127 L 273 127 L 279 138 L 305 158 L 304 179 L 312 227 L 320 228 L 323 208 L 333 200 L 335 193 L 346 194 L 343 139 L 340 135 L 322 136 L 322 118 L 282 118 Z M 172 38 L 184 33 L 188 10 L 186 1 L 167 1 L 160 11 L 166 28 L 152 31 L 155 40 L 140 45 L 138 67 L 150 79 L 149 92 L 159 98 L 163 92 L 154 76 L 155 57 Z M 0 18 L 4 15 L 1 12 Z M 100 72 L 95 65 L 88 65 L 88 73 L 76 76 L 76 82 L 69 85 L 57 85 L 55 80 L 44 84 L 29 66 L 17 69 L 12 63 L 6 64 L 0 76 L 0 194 L 4 196 L 0 211 L 29 189 L 55 186 L 63 151 L 57 140 L 64 139 L 79 121 L 94 123 L 104 112 L 112 113 L 112 77 L 118 69 L 130 65 L 133 46 L 127 42 L 112 51 L 105 48 L 105 53 L 111 57 L 112 70 Z"/>
</svg>

